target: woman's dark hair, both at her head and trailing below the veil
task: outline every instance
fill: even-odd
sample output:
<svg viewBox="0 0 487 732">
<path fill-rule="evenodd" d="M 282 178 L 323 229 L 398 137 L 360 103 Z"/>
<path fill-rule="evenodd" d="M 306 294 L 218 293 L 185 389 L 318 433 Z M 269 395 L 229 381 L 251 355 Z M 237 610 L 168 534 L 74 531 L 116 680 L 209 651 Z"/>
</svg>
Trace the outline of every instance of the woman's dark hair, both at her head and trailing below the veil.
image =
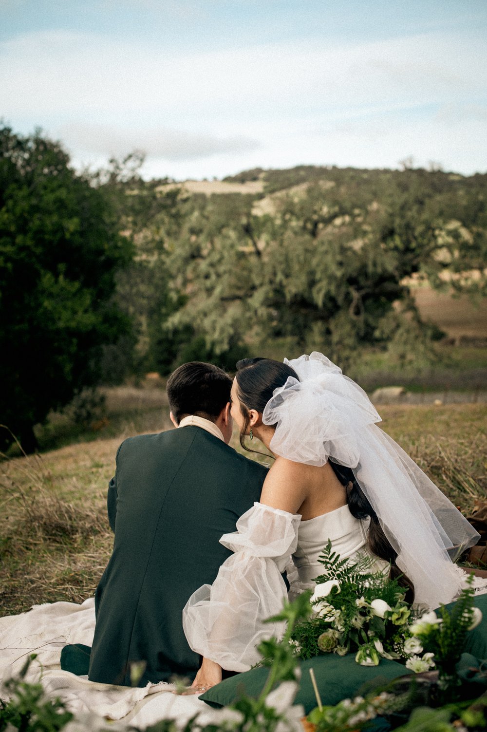
<svg viewBox="0 0 487 732">
<path fill-rule="evenodd" d="M 245 444 L 245 436 L 248 425 L 250 424 L 249 410 L 256 409 L 256 411 L 262 414 L 267 402 L 272 397 L 274 389 L 284 386 L 289 376 L 294 376 L 297 381 L 300 381 L 294 369 L 280 361 L 256 358 L 242 359 L 242 361 L 237 362 L 237 374 L 235 378 L 237 379 L 237 395 L 240 400 L 240 411 L 243 417 L 242 430 L 240 430 L 240 444 L 249 452 L 256 452 Z M 275 427 L 276 425 L 270 426 Z M 414 586 L 411 580 L 395 564 L 398 553 L 384 534 L 384 530 L 379 523 L 379 518 L 373 510 L 370 501 L 365 496 L 365 493 L 363 493 L 362 488 L 360 488 L 352 468 L 338 465 L 332 460 L 329 460 L 329 463 L 336 477 L 346 490 L 346 500 L 352 516 L 358 519 L 367 518 L 367 516 L 371 518 L 367 536 L 368 547 L 373 554 L 390 562 L 390 578 L 398 579 L 399 583 L 406 588 L 406 600 L 412 602 L 414 600 Z"/>
</svg>

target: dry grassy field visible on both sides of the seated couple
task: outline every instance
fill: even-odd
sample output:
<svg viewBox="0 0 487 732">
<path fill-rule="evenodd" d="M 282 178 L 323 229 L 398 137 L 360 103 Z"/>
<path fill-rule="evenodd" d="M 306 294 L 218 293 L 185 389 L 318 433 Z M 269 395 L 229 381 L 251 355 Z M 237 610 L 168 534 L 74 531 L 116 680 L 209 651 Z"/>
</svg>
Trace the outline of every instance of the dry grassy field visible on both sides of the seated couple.
<svg viewBox="0 0 487 732">
<path fill-rule="evenodd" d="M 382 406 L 379 411 L 384 429 L 466 514 L 477 498 L 487 497 L 486 406 Z M 146 419 L 149 430 L 158 430 L 165 426 L 166 411 L 149 409 Z M 119 442 L 137 431 L 130 432 L 129 425 L 130 418 L 118 436 L 0 464 L 1 615 L 42 602 L 81 602 L 93 594 L 111 553 L 106 489 Z M 236 434 L 232 444 L 240 449 Z"/>
</svg>

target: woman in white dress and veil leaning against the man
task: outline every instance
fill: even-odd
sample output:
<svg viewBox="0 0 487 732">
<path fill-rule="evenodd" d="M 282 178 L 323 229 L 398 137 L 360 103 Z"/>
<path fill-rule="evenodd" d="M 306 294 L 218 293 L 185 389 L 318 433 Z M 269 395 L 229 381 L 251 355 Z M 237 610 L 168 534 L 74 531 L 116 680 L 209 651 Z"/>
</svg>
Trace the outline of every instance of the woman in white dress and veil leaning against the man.
<svg viewBox="0 0 487 732">
<path fill-rule="evenodd" d="M 281 572 L 292 556 L 300 586 L 312 587 L 328 539 L 342 558 L 368 553 L 420 608 L 458 595 L 466 575 L 452 560 L 477 532 L 376 426 L 376 409 L 340 368 L 316 352 L 244 359 L 231 400 L 242 446 L 259 438 L 275 462 L 260 502 L 220 539 L 234 554 L 183 612 L 187 641 L 204 657 L 195 690 L 217 684 L 222 668 L 248 671 L 260 641 L 282 635 L 282 623 L 263 623 L 288 597 Z"/>
</svg>

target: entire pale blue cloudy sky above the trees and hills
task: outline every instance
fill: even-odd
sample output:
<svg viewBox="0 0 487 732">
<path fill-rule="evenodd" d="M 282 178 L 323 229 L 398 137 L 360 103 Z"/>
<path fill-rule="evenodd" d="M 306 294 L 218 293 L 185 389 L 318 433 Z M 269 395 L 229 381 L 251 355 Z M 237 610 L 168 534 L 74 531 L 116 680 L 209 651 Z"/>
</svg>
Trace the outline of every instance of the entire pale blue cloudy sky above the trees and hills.
<svg viewBox="0 0 487 732">
<path fill-rule="evenodd" d="M 78 168 L 487 171 L 487 0 L 0 0 L 0 117 Z"/>
</svg>

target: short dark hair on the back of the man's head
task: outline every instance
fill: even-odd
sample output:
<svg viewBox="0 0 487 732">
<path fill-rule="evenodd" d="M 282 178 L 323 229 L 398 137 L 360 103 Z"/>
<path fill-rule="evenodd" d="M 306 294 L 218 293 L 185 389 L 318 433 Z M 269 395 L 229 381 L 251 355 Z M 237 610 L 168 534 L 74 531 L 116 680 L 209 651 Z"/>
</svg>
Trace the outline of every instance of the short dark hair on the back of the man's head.
<svg viewBox="0 0 487 732">
<path fill-rule="evenodd" d="M 214 421 L 230 401 L 231 383 L 228 373 L 213 364 L 192 361 L 176 368 L 166 386 L 176 422 L 188 414 Z"/>
</svg>

